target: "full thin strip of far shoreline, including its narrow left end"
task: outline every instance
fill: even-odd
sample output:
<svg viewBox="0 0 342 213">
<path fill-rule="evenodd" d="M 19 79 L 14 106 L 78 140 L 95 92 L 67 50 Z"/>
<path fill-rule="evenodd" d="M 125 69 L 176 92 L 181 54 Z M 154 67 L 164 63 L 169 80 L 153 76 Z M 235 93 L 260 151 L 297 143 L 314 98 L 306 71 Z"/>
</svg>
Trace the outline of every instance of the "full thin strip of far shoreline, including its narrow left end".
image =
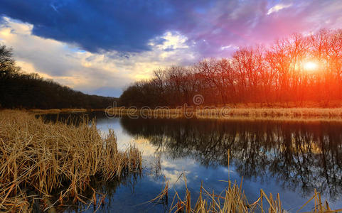
<svg viewBox="0 0 342 213">
<path fill-rule="evenodd" d="M 225 110 L 224 115 L 221 112 Z M 22 109 L 33 114 L 68 114 L 104 111 L 111 116 L 137 116 L 143 119 L 181 119 L 192 114 L 196 119 L 270 120 L 270 121 L 342 121 L 342 107 L 189 107 L 184 108 L 124 108 L 110 109 Z M 110 117 L 110 116 L 109 116 Z"/>
</svg>

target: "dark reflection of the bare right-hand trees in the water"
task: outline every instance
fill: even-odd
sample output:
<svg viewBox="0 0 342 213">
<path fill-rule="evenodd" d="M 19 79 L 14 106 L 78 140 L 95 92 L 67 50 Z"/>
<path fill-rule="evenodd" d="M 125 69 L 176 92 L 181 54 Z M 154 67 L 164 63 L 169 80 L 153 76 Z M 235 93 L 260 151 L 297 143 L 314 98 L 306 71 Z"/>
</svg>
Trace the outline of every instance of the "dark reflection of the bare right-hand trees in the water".
<svg viewBox="0 0 342 213">
<path fill-rule="evenodd" d="M 342 191 L 342 124 L 334 122 L 121 119 L 127 133 L 149 139 L 172 158 L 191 156 L 207 167 L 228 166 L 228 149 L 245 178 L 275 179 L 282 187 Z"/>
</svg>

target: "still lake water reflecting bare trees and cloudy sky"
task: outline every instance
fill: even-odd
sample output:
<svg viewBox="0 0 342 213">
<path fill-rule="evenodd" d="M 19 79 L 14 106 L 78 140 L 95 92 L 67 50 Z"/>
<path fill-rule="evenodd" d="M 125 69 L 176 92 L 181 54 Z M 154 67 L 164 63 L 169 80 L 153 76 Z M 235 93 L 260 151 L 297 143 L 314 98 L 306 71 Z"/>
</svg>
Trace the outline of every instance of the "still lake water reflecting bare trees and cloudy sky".
<svg viewBox="0 0 342 213">
<path fill-rule="evenodd" d="M 141 175 L 98 187 L 106 194 L 98 212 L 167 212 L 175 191 L 184 196 L 181 174 L 186 176 L 193 204 L 202 181 L 208 192 L 219 193 L 228 184 L 222 180 L 240 185 L 243 177 L 242 188 L 250 203 L 263 189 L 267 195 L 279 193 L 284 209 L 296 212 L 316 188 L 331 208 L 342 208 L 342 123 L 87 116 L 96 118 L 102 133 L 114 130 L 119 149 L 137 146 L 144 158 Z M 164 189 L 165 179 L 169 200 L 146 203 Z M 78 210 L 70 207 L 66 212 Z"/>
</svg>

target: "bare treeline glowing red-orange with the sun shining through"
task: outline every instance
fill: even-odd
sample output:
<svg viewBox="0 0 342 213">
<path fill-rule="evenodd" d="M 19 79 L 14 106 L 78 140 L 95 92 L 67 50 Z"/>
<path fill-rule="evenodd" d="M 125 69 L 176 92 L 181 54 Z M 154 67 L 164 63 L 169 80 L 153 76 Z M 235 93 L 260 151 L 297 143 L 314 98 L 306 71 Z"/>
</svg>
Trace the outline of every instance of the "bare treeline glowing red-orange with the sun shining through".
<svg viewBox="0 0 342 213">
<path fill-rule="evenodd" d="M 151 80 L 134 83 L 122 105 L 206 105 L 320 102 L 342 100 L 342 30 L 294 34 L 265 48 L 239 48 L 231 58 L 205 59 L 188 67 L 154 71 Z"/>
</svg>

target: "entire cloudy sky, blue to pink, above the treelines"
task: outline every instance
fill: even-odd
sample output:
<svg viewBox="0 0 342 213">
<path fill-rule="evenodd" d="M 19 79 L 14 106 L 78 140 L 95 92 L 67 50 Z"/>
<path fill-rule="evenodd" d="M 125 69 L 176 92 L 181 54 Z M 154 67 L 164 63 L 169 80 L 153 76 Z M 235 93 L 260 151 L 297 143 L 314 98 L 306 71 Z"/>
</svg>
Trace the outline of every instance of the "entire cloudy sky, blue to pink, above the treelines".
<svg viewBox="0 0 342 213">
<path fill-rule="evenodd" d="M 342 28 L 341 0 L 0 0 L 0 44 L 23 72 L 110 97 L 158 68 L 321 28 Z"/>
</svg>

